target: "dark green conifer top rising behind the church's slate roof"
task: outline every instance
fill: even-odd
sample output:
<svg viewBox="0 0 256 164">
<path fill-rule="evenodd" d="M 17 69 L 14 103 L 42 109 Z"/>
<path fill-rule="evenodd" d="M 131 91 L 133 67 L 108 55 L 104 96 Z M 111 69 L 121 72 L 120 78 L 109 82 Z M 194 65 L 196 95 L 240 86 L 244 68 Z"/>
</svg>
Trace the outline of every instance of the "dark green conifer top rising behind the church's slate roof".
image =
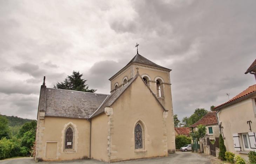
<svg viewBox="0 0 256 164">
<path fill-rule="evenodd" d="M 85 84 L 87 80 L 81 79 L 83 74 L 80 74 L 79 71 L 73 71 L 71 76 L 68 76 L 63 82 L 57 82 L 56 86 L 53 85 L 53 88 L 58 88 L 62 90 L 74 90 L 82 92 L 96 92 L 97 90 L 89 90 L 88 84 Z"/>
</svg>

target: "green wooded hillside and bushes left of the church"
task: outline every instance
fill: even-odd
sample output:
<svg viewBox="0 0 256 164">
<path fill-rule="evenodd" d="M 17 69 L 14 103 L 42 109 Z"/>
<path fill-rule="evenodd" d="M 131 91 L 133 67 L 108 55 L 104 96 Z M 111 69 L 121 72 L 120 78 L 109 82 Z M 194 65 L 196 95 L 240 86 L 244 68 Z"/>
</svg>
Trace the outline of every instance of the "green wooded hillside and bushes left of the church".
<svg viewBox="0 0 256 164">
<path fill-rule="evenodd" d="M 36 120 L 0 114 L 0 159 L 33 155 Z"/>
</svg>

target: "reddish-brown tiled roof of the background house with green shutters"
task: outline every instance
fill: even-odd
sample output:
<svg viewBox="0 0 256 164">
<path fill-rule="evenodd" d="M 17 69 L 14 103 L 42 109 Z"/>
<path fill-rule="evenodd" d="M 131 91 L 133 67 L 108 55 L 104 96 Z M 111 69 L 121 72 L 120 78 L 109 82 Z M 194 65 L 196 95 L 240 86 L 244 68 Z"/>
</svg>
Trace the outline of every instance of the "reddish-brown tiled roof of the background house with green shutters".
<svg viewBox="0 0 256 164">
<path fill-rule="evenodd" d="M 196 123 L 191 125 L 189 128 L 194 128 L 200 124 L 202 124 L 202 125 L 218 124 L 217 117 L 216 117 L 216 111 L 208 112 L 205 116 L 202 117 L 202 119 L 198 120 Z"/>
</svg>

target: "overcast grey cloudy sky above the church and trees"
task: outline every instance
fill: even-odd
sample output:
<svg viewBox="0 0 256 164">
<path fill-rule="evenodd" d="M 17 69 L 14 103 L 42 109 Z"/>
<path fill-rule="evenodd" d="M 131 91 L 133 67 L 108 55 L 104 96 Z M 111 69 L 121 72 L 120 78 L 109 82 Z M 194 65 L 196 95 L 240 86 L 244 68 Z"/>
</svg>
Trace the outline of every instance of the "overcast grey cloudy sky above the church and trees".
<svg viewBox="0 0 256 164">
<path fill-rule="evenodd" d="M 172 69 L 174 114 L 210 110 L 255 84 L 256 1 L 0 0 L 0 113 L 36 119 L 40 85 L 73 70 L 109 94 L 139 54 Z"/>
</svg>

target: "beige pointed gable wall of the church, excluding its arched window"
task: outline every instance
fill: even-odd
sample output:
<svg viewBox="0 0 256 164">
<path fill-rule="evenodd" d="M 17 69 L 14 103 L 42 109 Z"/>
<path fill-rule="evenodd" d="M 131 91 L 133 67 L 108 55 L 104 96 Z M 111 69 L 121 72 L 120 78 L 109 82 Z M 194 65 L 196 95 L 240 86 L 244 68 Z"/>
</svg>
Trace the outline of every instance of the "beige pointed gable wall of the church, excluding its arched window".
<svg viewBox="0 0 256 164">
<path fill-rule="evenodd" d="M 168 155 L 167 112 L 164 112 L 140 77 L 111 108 L 113 114 L 108 116 L 112 127 L 109 129 L 111 133 L 108 137 L 110 162 Z M 142 150 L 135 150 L 134 147 L 134 128 L 138 121 L 144 126 Z"/>
</svg>

